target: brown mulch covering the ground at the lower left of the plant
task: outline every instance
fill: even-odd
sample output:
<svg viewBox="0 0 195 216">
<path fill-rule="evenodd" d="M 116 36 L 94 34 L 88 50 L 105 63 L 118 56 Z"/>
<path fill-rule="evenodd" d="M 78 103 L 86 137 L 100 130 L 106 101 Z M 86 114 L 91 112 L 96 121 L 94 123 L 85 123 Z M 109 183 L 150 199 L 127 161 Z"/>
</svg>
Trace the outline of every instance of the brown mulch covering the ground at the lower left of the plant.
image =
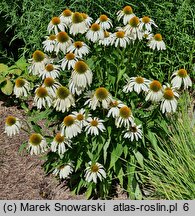
<svg viewBox="0 0 195 216">
<path fill-rule="evenodd" d="M 65 182 L 59 182 L 53 175 L 45 175 L 43 160 L 36 155 L 19 153 L 20 145 L 28 140 L 24 131 L 13 137 L 4 133 L 5 119 L 13 115 L 25 118 L 22 109 L 16 105 L 7 106 L 0 100 L 0 200 L 79 200 L 84 194 L 74 195 Z M 127 199 L 119 191 L 113 199 Z"/>
</svg>

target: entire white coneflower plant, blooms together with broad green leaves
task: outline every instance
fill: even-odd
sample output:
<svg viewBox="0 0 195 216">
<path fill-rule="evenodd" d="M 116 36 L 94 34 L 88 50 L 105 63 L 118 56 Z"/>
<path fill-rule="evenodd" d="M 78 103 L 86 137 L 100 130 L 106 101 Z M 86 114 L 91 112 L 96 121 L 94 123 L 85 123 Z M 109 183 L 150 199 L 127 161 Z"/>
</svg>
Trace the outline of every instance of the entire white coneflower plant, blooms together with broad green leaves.
<svg viewBox="0 0 195 216">
<path fill-rule="evenodd" d="M 36 83 L 30 88 L 22 77 L 15 82 L 17 98 L 33 98 L 29 120 L 8 116 L 5 133 L 25 129 L 27 151 L 44 154 L 45 171 L 65 179 L 75 193 L 107 198 L 120 185 L 131 199 L 141 199 L 137 173 L 151 148 L 151 131 L 161 134 L 162 121 L 175 115 L 180 94 L 192 86 L 182 65 L 172 76 L 164 71 L 163 79 L 151 73 L 149 62 L 159 63 L 166 52 L 166 35 L 159 31 L 155 20 L 136 16 L 130 5 L 114 22 L 108 14 L 95 20 L 66 8 L 51 18 L 43 48 L 29 59 Z M 159 59 L 150 59 L 153 52 Z"/>
</svg>

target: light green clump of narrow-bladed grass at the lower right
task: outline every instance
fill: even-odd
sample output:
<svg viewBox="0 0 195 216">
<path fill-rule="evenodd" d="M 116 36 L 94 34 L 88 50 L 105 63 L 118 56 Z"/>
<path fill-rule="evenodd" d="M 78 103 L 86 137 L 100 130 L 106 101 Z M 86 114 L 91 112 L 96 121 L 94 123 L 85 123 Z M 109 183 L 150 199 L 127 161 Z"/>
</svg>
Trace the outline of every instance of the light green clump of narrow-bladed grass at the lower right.
<svg viewBox="0 0 195 216">
<path fill-rule="evenodd" d="M 178 119 L 166 124 L 169 139 L 151 138 L 149 158 L 145 159 L 146 179 L 155 189 L 153 196 L 170 200 L 195 198 L 195 125 L 192 98 L 188 94 L 180 99 Z M 156 142 L 158 140 L 158 145 Z"/>
</svg>

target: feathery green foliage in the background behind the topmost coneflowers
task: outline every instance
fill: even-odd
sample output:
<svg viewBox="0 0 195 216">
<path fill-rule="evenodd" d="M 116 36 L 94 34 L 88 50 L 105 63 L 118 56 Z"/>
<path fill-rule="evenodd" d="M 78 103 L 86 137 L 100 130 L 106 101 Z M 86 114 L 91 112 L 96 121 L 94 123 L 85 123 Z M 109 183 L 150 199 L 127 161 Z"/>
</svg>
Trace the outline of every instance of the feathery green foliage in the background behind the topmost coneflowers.
<svg viewBox="0 0 195 216">
<path fill-rule="evenodd" d="M 102 1 L 102 0 L 70 0 L 70 1 L 7 1 L 0 3 L 0 14 L 7 21 L 7 30 L 14 30 L 14 37 L 24 40 L 25 46 L 21 47 L 21 54 L 30 52 L 42 47 L 41 42 L 46 35 L 46 29 L 52 16 L 57 16 L 63 9 L 70 8 L 73 11 L 80 11 L 89 14 L 97 19 L 100 14 L 107 14 L 117 24 L 115 14 L 119 8 L 125 5 L 131 5 L 138 16 L 150 16 L 158 23 L 159 30 L 165 38 L 167 51 L 160 55 L 161 60 L 158 61 L 158 54 L 145 52 L 143 60 L 148 64 L 148 71 L 154 77 L 158 75 L 159 79 L 163 79 L 164 71 L 170 75 L 171 71 L 180 67 L 192 71 L 194 62 L 194 46 L 195 46 L 195 5 L 191 4 L 192 0 L 170 0 L 164 1 Z M 156 32 L 158 33 L 158 32 Z M 151 57 L 155 59 L 155 63 L 151 62 Z M 160 64 L 159 64 L 160 63 Z M 140 65 L 141 68 L 144 62 Z"/>
</svg>

